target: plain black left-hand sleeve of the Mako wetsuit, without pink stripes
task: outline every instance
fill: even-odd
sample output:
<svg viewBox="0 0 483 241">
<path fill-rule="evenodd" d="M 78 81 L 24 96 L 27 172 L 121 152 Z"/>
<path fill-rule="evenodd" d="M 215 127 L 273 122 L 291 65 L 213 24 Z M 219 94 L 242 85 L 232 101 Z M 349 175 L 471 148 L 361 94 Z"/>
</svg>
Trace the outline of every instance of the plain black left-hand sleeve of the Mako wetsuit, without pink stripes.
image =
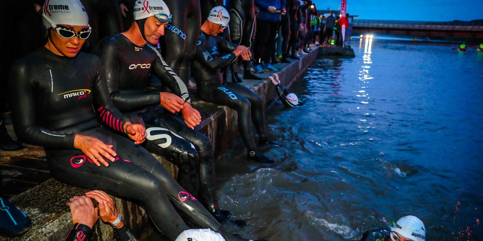
<svg viewBox="0 0 483 241">
<path fill-rule="evenodd" d="M 12 121 L 18 138 L 23 142 L 57 148 L 74 148 L 74 134 L 46 130 L 39 126 L 35 115 L 35 92 L 40 85 L 31 76 L 28 64 L 17 62 L 10 70 L 9 93 L 11 97 Z"/>
</svg>

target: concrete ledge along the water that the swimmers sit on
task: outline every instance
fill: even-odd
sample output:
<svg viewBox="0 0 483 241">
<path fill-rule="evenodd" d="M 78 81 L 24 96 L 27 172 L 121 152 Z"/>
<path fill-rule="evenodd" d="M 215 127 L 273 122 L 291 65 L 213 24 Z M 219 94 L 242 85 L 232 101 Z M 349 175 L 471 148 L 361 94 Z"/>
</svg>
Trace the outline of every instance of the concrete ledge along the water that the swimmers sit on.
<svg viewBox="0 0 483 241">
<path fill-rule="evenodd" d="M 279 72 L 280 80 L 285 86 L 289 86 L 299 75 L 309 67 L 319 54 L 318 48 L 314 48 L 310 54 L 307 54 L 298 61 L 288 65 L 277 64 L 275 67 L 283 67 Z M 243 80 L 243 84 L 261 95 L 264 99 L 265 107 L 277 98 L 276 90 L 273 84 L 266 77 L 271 73 L 258 74 L 265 80 Z M 194 95 L 194 94 L 193 94 Z M 237 113 L 225 106 L 218 106 L 206 103 L 193 98 L 193 106 L 202 113 L 202 122 L 199 125 L 199 131 L 212 139 L 215 157 L 231 147 L 239 136 L 237 125 Z M 36 157 L 25 156 L 24 153 L 16 153 L 17 159 L 25 158 L 36 159 L 45 163 L 45 153 L 37 150 Z M 25 154 L 25 155 L 24 155 Z M 15 153 L 9 154 L 15 156 Z M 167 170 L 175 176 L 177 173 L 176 166 L 169 161 L 154 155 L 156 159 L 161 161 Z M 17 160 L 22 161 L 22 160 Z M 14 165 L 14 164 L 8 164 Z M 58 182 L 50 178 L 40 185 L 37 185 L 12 199 L 12 202 L 22 209 L 32 219 L 32 228 L 20 237 L 0 240 L 6 241 L 61 241 L 64 239 L 67 231 L 72 227 L 72 219 L 69 207 L 66 205 L 68 200 L 73 196 L 83 195 L 86 191 L 84 188 L 72 187 Z M 133 234 L 140 240 L 146 237 L 152 231 L 152 225 L 144 210 L 129 201 L 112 197 L 116 208 L 120 213 L 124 214 L 126 223 L 131 228 Z M 94 227 L 91 241 L 109 241 L 113 240 L 112 228 L 104 225 L 102 222 L 97 223 Z"/>
</svg>

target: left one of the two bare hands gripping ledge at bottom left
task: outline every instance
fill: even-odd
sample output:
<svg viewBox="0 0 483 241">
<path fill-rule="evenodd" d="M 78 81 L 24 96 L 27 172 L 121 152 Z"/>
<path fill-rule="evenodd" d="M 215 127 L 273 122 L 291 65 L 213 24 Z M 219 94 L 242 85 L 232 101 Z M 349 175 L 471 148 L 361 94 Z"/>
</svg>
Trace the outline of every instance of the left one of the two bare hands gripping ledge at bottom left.
<svg viewBox="0 0 483 241">
<path fill-rule="evenodd" d="M 84 224 L 92 229 L 97 222 L 99 208 L 95 208 L 90 198 L 74 196 L 69 199 L 67 206 L 71 208 L 72 224 Z"/>
</svg>

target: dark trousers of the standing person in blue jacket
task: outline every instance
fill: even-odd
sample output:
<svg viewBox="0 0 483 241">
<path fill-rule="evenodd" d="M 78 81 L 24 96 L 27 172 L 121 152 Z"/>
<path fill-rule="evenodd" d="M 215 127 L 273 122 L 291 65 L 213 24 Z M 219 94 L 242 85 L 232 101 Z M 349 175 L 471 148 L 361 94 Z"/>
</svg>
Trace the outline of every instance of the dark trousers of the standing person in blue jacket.
<svg viewBox="0 0 483 241">
<path fill-rule="evenodd" d="M 256 19 L 255 61 L 261 59 L 265 63 L 270 63 L 271 56 L 275 54 L 273 46 L 275 46 L 275 36 L 279 26 L 280 22 Z"/>
</svg>

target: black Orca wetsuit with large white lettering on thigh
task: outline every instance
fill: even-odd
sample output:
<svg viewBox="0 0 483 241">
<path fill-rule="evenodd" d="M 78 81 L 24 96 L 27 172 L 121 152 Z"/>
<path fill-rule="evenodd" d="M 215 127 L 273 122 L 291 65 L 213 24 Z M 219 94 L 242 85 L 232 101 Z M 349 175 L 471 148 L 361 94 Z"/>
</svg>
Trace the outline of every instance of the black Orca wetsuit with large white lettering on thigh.
<svg viewBox="0 0 483 241">
<path fill-rule="evenodd" d="M 149 43 L 140 47 L 126 36 L 115 34 L 101 40 L 95 53 L 106 70 L 107 86 L 114 105 L 145 123 L 147 137 L 142 146 L 177 165 L 180 185 L 214 212 L 218 204 L 210 139 L 191 130 L 181 118 L 168 111 L 164 113 L 159 92 L 144 92 L 151 73 L 154 73 L 164 86 L 190 103 L 185 83 Z M 132 122 L 140 122 L 134 119 Z"/>
</svg>

